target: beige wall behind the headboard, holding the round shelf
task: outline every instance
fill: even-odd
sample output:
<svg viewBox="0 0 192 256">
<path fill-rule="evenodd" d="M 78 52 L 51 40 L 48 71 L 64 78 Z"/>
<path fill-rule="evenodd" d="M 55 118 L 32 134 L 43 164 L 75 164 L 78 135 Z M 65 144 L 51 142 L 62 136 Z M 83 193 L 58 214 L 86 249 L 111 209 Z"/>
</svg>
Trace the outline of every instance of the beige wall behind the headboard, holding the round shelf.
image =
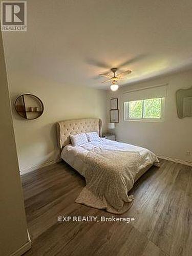
<svg viewBox="0 0 192 256">
<path fill-rule="evenodd" d="M 7 60 L 8 65 L 9 61 Z M 39 77 L 8 73 L 12 105 L 23 93 L 37 95 L 45 112 L 36 120 L 18 116 L 13 106 L 18 160 L 21 170 L 32 170 L 59 158 L 55 122 L 71 118 L 99 117 L 105 130 L 106 91 L 74 87 Z M 32 167 L 32 168 L 31 168 Z M 30 168 L 30 169 L 29 169 Z"/>
</svg>

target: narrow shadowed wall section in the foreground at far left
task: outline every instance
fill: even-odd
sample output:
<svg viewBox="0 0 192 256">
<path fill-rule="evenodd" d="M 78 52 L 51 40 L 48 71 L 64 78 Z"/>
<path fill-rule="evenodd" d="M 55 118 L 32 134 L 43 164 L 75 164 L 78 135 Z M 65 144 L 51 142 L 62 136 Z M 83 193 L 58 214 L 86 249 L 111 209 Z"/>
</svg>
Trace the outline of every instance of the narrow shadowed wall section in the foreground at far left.
<svg viewBox="0 0 192 256">
<path fill-rule="evenodd" d="M 1 34 L 0 83 L 0 254 L 6 256 L 26 245 L 28 235 Z"/>
</svg>

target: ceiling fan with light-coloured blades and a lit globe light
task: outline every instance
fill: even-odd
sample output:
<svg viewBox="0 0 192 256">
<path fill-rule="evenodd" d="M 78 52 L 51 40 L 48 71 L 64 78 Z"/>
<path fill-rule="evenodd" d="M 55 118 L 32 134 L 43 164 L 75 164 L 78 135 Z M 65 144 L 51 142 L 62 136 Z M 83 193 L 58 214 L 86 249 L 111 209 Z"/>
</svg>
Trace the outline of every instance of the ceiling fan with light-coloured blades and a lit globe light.
<svg viewBox="0 0 192 256">
<path fill-rule="evenodd" d="M 123 71 L 119 74 L 115 74 L 117 72 L 117 68 L 112 68 L 111 71 L 113 72 L 113 76 L 111 75 L 106 75 L 106 74 L 99 74 L 100 76 L 104 76 L 104 77 L 108 77 L 107 80 L 103 81 L 102 83 L 106 83 L 106 82 L 111 82 L 111 90 L 112 91 L 117 91 L 119 86 L 117 84 L 117 81 L 119 80 L 126 80 L 127 78 L 124 77 L 125 75 L 129 75 L 132 73 L 131 70 L 126 70 L 126 71 Z"/>
</svg>

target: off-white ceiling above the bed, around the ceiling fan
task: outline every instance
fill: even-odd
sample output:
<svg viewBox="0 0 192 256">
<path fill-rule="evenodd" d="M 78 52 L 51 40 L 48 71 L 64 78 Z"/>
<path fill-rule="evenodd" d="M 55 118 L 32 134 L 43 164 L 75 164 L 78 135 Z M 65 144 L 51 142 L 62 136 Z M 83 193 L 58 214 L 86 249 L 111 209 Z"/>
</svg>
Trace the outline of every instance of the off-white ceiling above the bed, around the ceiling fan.
<svg viewBox="0 0 192 256">
<path fill-rule="evenodd" d="M 192 64 L 191 0 L 28 0 L 27 5 L 27 32 L 4 33 L 8 71 L 17 75 L 109 88 L 98 74 L 124 62 L 121 70 L 133 71 L 124 84 Z"/>
</svg>

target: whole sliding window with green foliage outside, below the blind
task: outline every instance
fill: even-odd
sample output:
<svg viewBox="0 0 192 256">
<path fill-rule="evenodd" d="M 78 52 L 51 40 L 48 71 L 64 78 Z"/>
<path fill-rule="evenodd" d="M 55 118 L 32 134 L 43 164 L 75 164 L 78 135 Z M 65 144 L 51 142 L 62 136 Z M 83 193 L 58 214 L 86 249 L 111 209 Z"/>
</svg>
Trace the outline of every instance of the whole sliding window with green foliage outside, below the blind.
<svg viewBox="0 0 192 256">
<path fill-rule="evenodd" d="M 161 121 L 164 115 L 164 98 L 124 102 L 124 120 Z"/>
</svg>

